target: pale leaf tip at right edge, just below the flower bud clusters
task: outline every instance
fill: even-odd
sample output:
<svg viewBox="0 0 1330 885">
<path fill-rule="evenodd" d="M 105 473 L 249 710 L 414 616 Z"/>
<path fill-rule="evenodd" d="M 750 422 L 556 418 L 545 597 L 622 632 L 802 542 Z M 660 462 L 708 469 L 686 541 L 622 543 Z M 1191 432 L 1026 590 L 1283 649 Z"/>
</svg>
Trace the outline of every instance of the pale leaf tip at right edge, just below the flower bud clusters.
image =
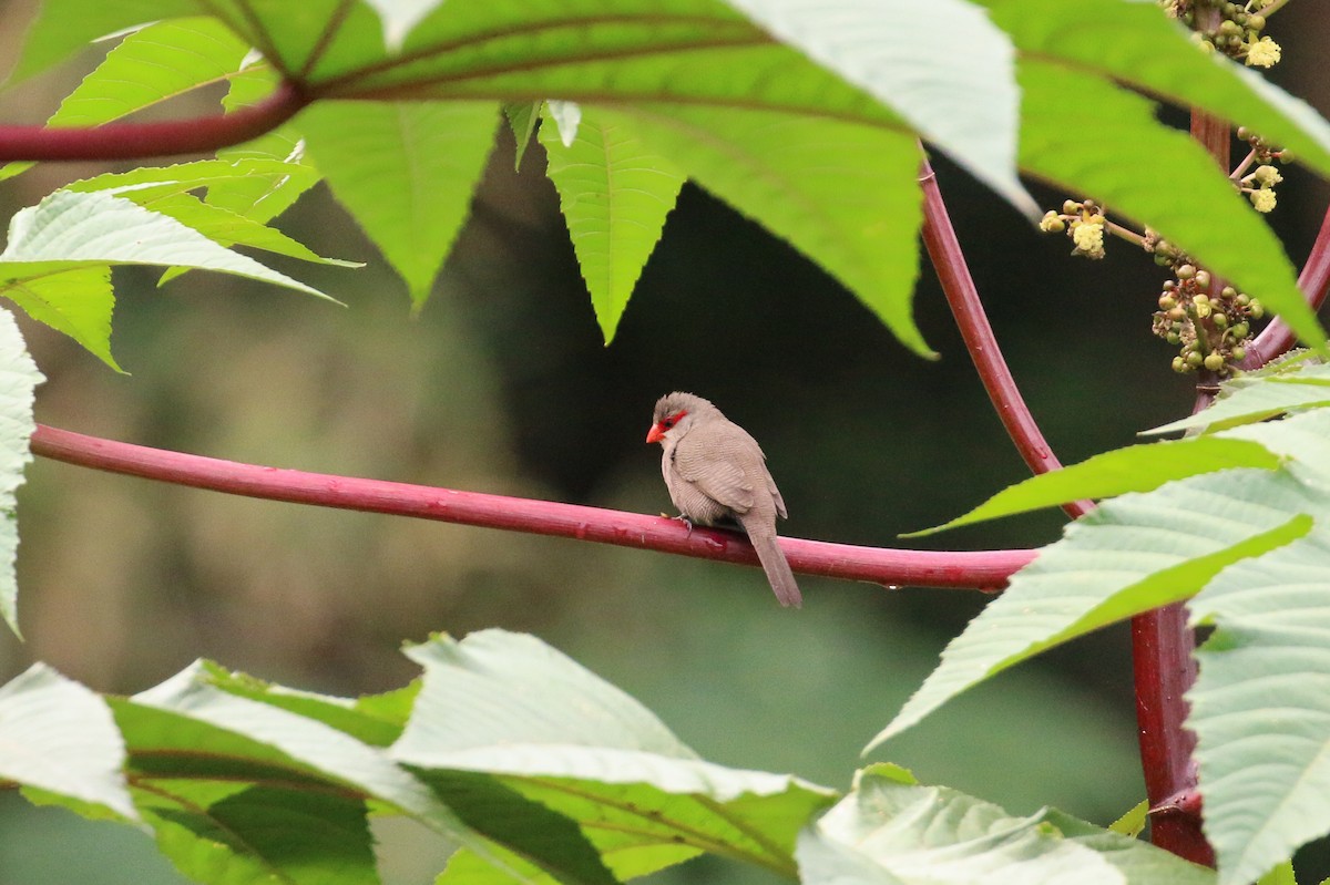
<svg viewBox="0 0 1330 885">
<path fill-rule="evenodd" d="M 1224 383 L 1210 408 L 1145 433 L 1173 433 L 1206 428 L 1221 431 L 1264 421 L 1286 412 L 1330 405 L 1330 365 L 1295 363 L 1273 372 L 1240 375 Z"/>
</svg>

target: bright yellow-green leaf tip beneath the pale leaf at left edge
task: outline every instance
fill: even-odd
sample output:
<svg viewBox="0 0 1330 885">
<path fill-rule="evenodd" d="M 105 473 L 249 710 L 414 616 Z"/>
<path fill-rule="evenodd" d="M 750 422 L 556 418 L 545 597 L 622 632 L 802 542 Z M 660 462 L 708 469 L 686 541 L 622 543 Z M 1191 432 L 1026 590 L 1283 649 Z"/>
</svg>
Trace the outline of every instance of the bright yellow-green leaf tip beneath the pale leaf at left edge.
<svg viewBox="0 0 1330 885">
<path fill-rule="evenodd" d="M 63 264 L 33 267 L 31 272 L 0 282 L 0 295 L 23 308 L 32 319 L 82 344 L 117 372 L 110 355 L 110 315 L 116 295 L 110 288 L 110 267 L 74 267 Z"/>
</svg>

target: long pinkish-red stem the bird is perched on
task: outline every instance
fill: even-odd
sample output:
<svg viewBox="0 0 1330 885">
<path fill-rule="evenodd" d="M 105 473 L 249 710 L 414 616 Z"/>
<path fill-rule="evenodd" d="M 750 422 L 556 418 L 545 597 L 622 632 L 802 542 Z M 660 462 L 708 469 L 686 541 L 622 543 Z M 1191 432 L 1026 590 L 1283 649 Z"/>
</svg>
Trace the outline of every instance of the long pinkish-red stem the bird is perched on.
<svg viewBox="0 0 1330 885">
<path fill-rule="evenodd" d="M 37 425 L 37 432 L 32 435 L 32 450 L 80 466 L 251 498 L 390 513 L 758 565 L 757 554 L 742 534 L 704 528 L 689 533 L 677 520 L 666 517 L 239 464 L 44 425 Z M 781 546 L 790 567 L 803 574 L 886 586 L 984 591 L 1000 590 L 1013 571 L 1035 558 L 1033 550 L 892 550 L 802 538 L 781 538 Z"/>
</svg>

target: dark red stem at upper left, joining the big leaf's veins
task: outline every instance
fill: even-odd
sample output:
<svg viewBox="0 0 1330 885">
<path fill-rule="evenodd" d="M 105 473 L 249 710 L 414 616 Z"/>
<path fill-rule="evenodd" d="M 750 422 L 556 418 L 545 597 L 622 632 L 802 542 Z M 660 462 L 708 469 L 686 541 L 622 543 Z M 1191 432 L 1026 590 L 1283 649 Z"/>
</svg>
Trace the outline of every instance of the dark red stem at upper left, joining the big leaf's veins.
<svg viewBox="0 0 1330 885">
<path fill-rule="evenodd" d="M 309 100 L 283 82 L 257 105 L 230 114 L 93 128 L 0 126 L 0 161 L 134 159 L 211 153 L 277 129 Z"/>
</svg>

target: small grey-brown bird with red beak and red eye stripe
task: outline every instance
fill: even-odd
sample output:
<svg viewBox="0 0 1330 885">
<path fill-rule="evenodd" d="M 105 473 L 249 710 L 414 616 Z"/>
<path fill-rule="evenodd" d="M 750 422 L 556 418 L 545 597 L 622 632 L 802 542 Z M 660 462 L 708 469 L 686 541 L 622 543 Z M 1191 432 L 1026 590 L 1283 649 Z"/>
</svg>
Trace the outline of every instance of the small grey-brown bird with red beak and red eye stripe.
<svg viewBox="0 0 1330 885">
<path fill-rule="evenodd" d="M 785 501 L 766 456 L 747 431 L 701 396 L 674 392 L 656 401 L 648 442 L 660 442 L 661 474 L 681 517 L 702 525 L 738 522 L 782 606 L 801 606 L 799 586 L 775 540 Z"/>
</svg>

